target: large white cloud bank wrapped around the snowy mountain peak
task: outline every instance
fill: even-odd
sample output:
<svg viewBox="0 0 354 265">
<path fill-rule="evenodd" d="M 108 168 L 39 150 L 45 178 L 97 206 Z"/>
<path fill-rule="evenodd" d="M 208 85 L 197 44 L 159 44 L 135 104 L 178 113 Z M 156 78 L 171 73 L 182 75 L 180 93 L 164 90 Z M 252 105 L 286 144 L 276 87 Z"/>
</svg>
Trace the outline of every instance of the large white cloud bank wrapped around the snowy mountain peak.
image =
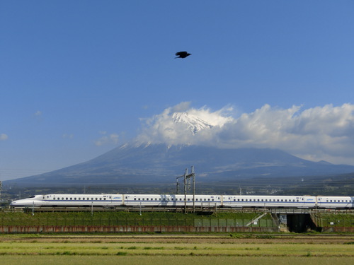
<svg viewBox="0 0 354 265">
<path fill-rule="evenodd" d="M 168 144 L 200 144 L 221 148 L 280 148 L 309 160 L 354 163 L 354 105 L 280 109 L 263 105 L 235 117 L 232 107 L 211 111 L 195 109 L 189 102 L 169 107 L 144 119 L 139 141 Z M 172 115 L 185 112 L 212 125 L 193 134 L 187 124 L 176 123 Z"/>
</svg>

